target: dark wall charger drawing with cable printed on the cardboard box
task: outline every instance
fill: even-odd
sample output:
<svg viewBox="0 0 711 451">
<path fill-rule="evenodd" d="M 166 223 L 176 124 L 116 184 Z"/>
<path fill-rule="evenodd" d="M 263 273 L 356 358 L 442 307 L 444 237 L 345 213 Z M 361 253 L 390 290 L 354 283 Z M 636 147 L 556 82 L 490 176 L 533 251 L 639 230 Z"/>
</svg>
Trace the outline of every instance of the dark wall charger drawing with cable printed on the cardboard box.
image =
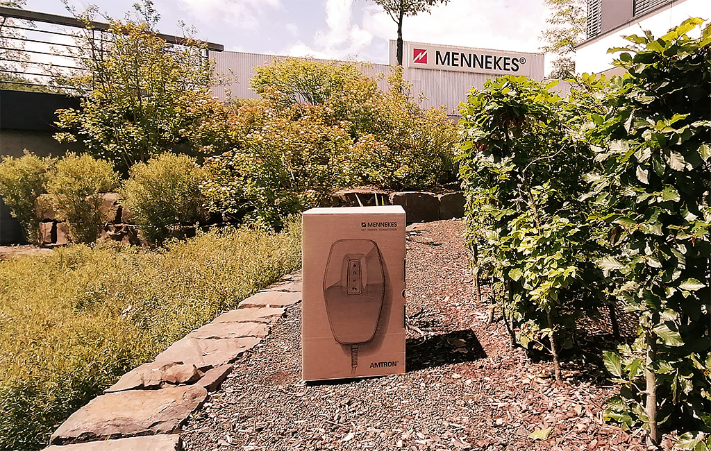
<svg viewBox="0 0 711 451">
<path fill-rule="evenodd" d="M 355 374 L 358 347 L 375 337 L 385 299 L 383 256 L 375 241 L 342 239 L 331 245 L 324 298 L 333 338 L 350 347 Z"/>
</svg>

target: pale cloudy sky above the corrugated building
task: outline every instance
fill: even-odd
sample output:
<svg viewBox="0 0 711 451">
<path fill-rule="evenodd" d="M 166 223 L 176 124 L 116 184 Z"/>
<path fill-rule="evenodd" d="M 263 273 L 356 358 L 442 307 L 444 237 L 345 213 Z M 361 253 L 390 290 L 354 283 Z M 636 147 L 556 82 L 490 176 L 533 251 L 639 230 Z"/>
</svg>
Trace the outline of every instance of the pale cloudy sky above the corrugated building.
<svg viewBox="0 0 711 451">
<path fill-rule="evenodd" d="M 95 4 L 110 17 L 124 18 L 136 1 L 68 4 L 77 11 Z M 196 38 L 240 52 L 387 64 L 388 40 L 397 38 L 395 22 L 373 0 L 154 0 L 154 6 L 161 33 L 181 35 L 183 21 L 195 27 Z M 60 0 L 27 0 L 25 9 L 67 15 Z M 405 18 L 402 35 L 424 43 L 536 52 L 546 13 L 542 0 L 450 0 L 430 14 Z"/>
</svg>

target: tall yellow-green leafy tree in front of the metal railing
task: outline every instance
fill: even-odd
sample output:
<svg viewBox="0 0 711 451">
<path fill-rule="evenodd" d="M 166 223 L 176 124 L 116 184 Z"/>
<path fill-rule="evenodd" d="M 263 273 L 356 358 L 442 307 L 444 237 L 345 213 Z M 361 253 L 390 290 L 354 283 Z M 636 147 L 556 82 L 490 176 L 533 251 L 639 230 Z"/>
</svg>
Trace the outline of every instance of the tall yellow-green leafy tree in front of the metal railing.
<svg viewBox="0 0 711 451">
<path fill-rule="evenodd" d="M 111 21 L 109 42 L 77 36 L 85 71 L 65 80 L 82 94 L 80 109 L 58 111 L 59 141 L 82 141 L 88 152 L 126 173 L 166 150 L 201 152 L 193 126 L 222 114 L 209 94 L 212 70 L 196 45 L 176 47 L 151 33 L 149 22 Z M 86 18 L 85 18 L 86 19 Z M 86 19 L 87 27 L 90 21 Z M 214 124 L 213 122 L 210 122 Z"/>
</svg>

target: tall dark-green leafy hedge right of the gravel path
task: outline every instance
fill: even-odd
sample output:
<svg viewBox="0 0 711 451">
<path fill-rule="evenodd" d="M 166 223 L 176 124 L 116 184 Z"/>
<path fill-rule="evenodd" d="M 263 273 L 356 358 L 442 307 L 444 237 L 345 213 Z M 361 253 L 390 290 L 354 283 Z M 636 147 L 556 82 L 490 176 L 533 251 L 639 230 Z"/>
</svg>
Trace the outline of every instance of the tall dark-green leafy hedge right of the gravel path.
<svg viewBox="0 0 711 451">
<path fill-rule="evenodd" d="M 626 39 L 612 50 L 627 73 L 583 75 L 565 102 L 524 77 L 472 90 L 461 176 L 474 266 L 491 263 L 510 332 L 550 339 L 554 362 L 566 314 L 616 298 L 637 336 L 603 353 L 620 391 L 602 419 L 707 450 L 711 24 Z"/>
</svg>

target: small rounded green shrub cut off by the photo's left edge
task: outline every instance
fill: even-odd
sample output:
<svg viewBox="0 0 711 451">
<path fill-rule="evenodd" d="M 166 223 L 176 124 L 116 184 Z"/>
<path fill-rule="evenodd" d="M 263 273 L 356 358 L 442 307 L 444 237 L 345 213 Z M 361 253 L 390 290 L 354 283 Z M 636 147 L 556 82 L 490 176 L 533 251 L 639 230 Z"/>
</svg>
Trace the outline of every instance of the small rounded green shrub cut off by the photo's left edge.
<svg viewBox="0 0 711 451">
<path fill-rule="evenodd" d="M 41 239 L 35 201 L 46 193 L 47 173 L 55 161 L 25 151 L 20 158 L 5 156 L 0 163 L 0 195 L 33 244 Z"/>
</svg>

